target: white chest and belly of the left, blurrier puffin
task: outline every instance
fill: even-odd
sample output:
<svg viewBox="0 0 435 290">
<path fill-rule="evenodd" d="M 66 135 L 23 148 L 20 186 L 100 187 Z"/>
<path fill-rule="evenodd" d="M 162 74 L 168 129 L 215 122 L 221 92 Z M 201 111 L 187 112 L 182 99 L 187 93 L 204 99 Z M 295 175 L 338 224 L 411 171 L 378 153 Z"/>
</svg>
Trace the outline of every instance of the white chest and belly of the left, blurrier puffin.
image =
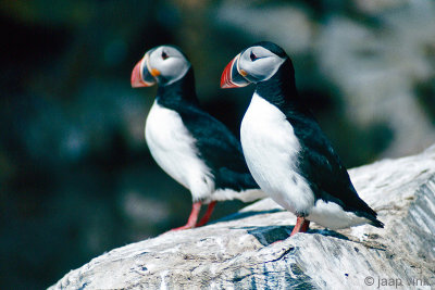
<svg viewBox="0 0 435 290">
<path fill-rule="evenodd" d="M 210 168 L 198 157 L 195 139 L 179 114 L 153 103 L 145 126 L 152 157 L 172 178 L 202 199 L 214 189 Z"/>
</svg>

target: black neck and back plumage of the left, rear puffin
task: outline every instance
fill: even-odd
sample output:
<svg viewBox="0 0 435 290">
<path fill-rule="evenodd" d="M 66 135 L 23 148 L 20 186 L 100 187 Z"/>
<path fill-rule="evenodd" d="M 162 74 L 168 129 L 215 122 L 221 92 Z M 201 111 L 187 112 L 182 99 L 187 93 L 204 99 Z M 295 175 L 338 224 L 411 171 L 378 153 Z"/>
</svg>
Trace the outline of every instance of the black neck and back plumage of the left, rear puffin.
<svg viewBox="0 0 435 290">
<path fill-rule="evenodd" d="M 216 189 L 257 189 L 240 142 L 224 124 L 203 111 L 195 91 L 194 71 L 169 86 L 159 86 L 157 102 L 176 111 L 196 140 L 200 159 L 212 171 Z"/>
</svg>

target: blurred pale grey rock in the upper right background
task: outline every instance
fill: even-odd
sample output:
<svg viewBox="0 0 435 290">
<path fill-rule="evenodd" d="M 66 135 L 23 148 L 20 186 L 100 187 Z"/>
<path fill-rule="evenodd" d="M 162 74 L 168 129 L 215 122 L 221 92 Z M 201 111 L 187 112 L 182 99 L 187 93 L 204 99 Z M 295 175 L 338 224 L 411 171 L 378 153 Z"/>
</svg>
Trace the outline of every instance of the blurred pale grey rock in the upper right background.
<svg viewBox="0 0 435 290">
<path fill-rule="evenodd" d="M 428 52 L 435 45 L 434 12 L 435 2 L 419 0 L 380 13 L 376 28 L 339 15 L 320 33 L 319 66 L 343 92 L 347 116 L 360 126 L 385 123 L 393 130 L 395 141 L 383 156 L 417 153 L 435 141 L 417 92 L 435 75 Z M 427 29 L 418 28 L 422 25 Z"/>
</svg>

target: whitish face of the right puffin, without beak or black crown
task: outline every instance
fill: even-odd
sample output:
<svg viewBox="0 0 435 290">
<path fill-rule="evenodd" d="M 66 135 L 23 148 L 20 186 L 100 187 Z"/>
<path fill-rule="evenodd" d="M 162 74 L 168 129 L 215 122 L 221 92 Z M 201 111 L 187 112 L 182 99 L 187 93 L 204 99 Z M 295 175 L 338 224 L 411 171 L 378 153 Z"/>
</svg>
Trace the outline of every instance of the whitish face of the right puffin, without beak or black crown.
<svg viewBox="0 0 435 290">
<path fill-rule="evenodd" d="M 238 72 L 252 83 L 263 81 L 271 78 L 285 59 L 263 47 L 250 47 L 245 50 L 238 60 Z"/>
</svg>

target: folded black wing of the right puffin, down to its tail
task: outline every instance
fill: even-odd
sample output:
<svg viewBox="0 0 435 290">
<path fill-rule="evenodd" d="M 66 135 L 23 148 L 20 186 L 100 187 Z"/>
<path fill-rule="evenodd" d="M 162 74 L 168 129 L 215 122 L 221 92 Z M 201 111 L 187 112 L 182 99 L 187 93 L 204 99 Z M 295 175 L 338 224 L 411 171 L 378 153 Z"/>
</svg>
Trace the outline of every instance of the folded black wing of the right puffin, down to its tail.
<svg viewBox="0 0 435 290">
<path fill-rule="evenodd" d="M 287 115 L 301 142 L 300 174 L 309 181 L 316 198 L 333 201 L 345 211 L 352 211 L 381 226 L 376 213 L 359 198 L 349 174 L 330 140 L 311 115 Z"/>
</svg>

